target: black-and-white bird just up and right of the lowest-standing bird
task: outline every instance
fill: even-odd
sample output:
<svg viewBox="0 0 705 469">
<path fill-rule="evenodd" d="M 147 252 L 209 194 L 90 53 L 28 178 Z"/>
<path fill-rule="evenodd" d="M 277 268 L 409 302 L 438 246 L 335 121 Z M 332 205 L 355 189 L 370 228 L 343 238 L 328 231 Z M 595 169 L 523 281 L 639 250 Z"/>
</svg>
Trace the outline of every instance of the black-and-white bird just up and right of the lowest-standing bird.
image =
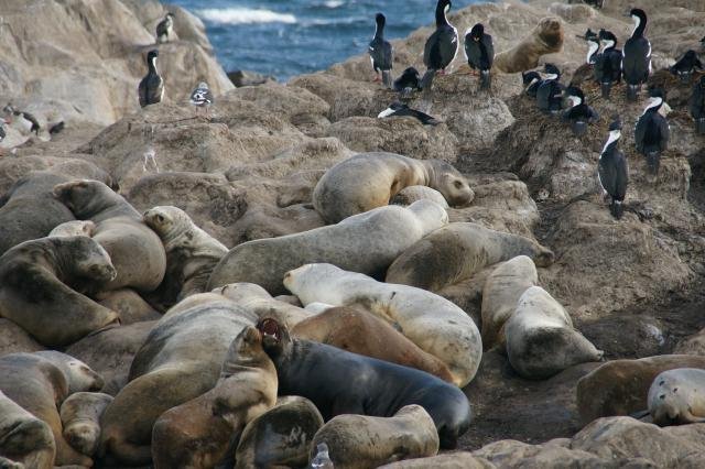
<svg viewBox="0 0 705 469">
<path fill-rule="evenodd" d="M 649 102 L 637 121 L 634 141 L 637 151 L 647 157 L 647 164 L 652 175 L 659 175 L 661 152 L 669 145 L 671 130 L 659 109 L 663 106 L 664 96 L 660 88 L 651 89 Z"/>
</svg>

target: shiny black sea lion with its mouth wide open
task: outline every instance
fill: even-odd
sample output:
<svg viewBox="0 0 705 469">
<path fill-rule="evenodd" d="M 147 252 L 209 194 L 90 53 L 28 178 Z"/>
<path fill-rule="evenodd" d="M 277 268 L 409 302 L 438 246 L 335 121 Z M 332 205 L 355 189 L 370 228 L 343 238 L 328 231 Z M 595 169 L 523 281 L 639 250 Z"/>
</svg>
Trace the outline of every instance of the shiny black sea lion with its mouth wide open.
<svg viewBox="0 0 705 469">
<path fill-rule="evenodd" d="M 391 417 L 419 404 L 433 418 L 441 447 L 451 449 L 470 425 L 463 391 L 432 374 L 292 338 L 274 319 L 262 319 L 257 328 L 276 368 L 280 395 L 310 399 L 326 421 L 340 414 Z"/>
</svg>

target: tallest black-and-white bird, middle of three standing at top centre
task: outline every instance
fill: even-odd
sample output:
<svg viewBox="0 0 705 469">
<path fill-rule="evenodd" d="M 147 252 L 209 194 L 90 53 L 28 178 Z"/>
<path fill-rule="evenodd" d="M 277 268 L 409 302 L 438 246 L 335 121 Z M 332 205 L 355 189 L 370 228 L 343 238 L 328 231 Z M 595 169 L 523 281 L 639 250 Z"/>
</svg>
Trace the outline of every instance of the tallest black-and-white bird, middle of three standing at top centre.
<svg viewBox="0 0 705 469">
<path fill-rule="evenodd" d="M 458 30 L 446 18 L 451 10 L 451 0 L 438 0 L 436 4 L 436 30 L 423 48 L 423 64 L 426 73 L 421 79 L 421 88 L 431 89 L 436 72 L 445 73 L 458 53 Z"/>
</svg>

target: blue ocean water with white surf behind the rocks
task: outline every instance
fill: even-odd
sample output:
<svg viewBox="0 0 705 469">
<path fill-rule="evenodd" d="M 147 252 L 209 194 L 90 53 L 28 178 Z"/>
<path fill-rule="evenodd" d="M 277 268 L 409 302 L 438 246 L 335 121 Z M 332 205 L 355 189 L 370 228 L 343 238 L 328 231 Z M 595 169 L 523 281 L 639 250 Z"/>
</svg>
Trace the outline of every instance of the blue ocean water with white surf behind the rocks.
<svg viewBox="0 0 705 469">
<path fill-rule="evenodd" d="M 477 0 L 454 0 L 453 10 Z M 435 0 L 170 0 L 206 24 L 227 70 L 245 69 L 285 81 L 367 51 L 375 14 L 386 37 L 404 37 L 434 22 Z"/>
</svg>

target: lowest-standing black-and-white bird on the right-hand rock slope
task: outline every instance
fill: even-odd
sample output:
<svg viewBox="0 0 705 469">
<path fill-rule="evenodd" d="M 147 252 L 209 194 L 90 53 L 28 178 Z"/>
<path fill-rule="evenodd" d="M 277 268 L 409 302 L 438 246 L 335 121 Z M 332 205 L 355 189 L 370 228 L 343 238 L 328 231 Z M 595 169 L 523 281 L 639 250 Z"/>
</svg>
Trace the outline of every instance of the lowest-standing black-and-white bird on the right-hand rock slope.
<svg viewBox="0 0 705 469">
<path fill-rule="evenodd" d="M 603 189 L 603 197 L 609 203 L 612 217 L 620 219 L 623 214 L 623 201 L 629 184 L 629 168 L 625 154 L 619 151 L 621 121 L 619 118 L 609 124 L 609 137 L 597 164 L 597 182 Z"/>
</svg>

